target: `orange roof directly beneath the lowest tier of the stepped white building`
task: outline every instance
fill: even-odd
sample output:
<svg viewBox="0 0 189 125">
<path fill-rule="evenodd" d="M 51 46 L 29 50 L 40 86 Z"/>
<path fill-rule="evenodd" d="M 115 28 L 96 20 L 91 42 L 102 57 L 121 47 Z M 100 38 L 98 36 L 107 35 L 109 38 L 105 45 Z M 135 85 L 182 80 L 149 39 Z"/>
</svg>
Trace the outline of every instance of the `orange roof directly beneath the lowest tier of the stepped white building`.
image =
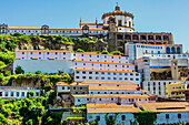
<svg viewBox="0 0 189 125">
<path fill-rule="evenodd" d="M 131 82 L 113 82 L 113 81 L 89 81 L 89 80 L 84 80 L 81 83 L 83 84 L 123 84 L 123 85 L 137 85 L 135 83 Z"/>
</svg>

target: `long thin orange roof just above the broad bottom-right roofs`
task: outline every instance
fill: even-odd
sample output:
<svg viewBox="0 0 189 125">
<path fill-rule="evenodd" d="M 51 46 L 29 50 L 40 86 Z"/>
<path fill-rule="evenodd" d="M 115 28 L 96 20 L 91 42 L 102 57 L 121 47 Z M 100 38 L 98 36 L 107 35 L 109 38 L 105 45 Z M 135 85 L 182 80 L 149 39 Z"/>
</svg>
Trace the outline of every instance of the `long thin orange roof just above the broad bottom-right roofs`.
<svg viewBox="0 0 189 125">
<path fill-rule="evenodd" d="M 149 98 L 149 95 L 121 95 L 121 94 L 82 94 L 82 95 L 72 95 L 73 97 L 90 97 L 90 98 L 96 98 L 96 97 L 120 97 L 120 98 Z"/>
</svg>

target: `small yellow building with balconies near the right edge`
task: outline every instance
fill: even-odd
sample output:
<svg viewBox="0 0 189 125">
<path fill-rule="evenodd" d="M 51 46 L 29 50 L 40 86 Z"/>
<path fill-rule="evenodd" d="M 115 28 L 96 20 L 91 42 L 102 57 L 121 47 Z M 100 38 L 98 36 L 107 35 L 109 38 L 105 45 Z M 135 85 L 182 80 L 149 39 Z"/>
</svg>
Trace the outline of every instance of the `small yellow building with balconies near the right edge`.
<svg viewBox="0 0 189 125">
<path fill-rule="evenodd" d="M 186 83 L 171 83 L 166 85 L 166 96 L 171 100 L 185 101 L 185 91 L 187 90 Z"/>
</svg>

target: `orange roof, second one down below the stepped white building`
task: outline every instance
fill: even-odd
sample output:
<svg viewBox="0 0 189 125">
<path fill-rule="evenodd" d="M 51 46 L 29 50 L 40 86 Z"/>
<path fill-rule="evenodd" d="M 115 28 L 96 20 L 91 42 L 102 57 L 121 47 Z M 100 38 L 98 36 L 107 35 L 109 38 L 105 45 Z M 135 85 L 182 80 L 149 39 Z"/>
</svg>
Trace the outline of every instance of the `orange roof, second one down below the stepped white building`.
<svg viewBox="0 0 189 125">
<path fill-rule="evenodd" d="M 91 91 L 137 91 L 136 86 L 97 86 L 90 85 Z"/>
</svg>

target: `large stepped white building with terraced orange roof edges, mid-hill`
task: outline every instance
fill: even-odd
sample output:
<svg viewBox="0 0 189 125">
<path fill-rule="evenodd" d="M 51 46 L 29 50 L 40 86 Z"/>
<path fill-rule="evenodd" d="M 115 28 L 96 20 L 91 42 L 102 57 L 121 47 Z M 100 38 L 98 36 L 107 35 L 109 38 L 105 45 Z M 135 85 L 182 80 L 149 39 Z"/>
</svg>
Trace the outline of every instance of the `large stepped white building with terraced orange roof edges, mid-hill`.
<svg viewBox="0 0 189 125">
<path fill-rule="evenodd" d="M 63 71 L 72 74 L 74 81 L 120 81 L 132 82 L 140 86 L 140 73 L 135 65 L 128 63 L 128 56 L 110 54 L 92 54 L 69 51 L 20 50 L 16 52 L 13 69 L 18 65 L 24 73 L 58 73 Z"/>
</svg>

